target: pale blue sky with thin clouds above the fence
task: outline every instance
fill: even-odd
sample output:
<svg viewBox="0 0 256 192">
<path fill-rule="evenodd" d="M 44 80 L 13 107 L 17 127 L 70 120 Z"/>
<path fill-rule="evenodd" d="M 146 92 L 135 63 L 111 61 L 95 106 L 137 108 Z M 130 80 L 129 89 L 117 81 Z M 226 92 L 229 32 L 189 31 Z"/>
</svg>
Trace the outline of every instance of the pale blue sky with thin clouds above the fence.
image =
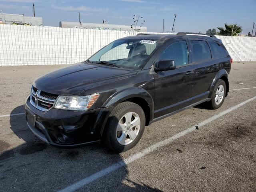
<svg viewBox="0 0 256 192">
<path fill-rule="evenodd" d="M 44 26 L 58 26 L 60 21 L 131 25 L 133 15 L 142 16 L 148 32 L 171 31 L 176 17 L 175 32 L 203 32 L 208 28 L 237 23 L 243 34 L 252 32 L 256 22 L 256 0 L 0 0 L 4 13 L 32 16 L 32 4 L 36 16 L 43 18 Z M 256 27 L 256 26 L 255 26 Z M 217 30 L 218 31 L 218 30 Z"/>
</svg>

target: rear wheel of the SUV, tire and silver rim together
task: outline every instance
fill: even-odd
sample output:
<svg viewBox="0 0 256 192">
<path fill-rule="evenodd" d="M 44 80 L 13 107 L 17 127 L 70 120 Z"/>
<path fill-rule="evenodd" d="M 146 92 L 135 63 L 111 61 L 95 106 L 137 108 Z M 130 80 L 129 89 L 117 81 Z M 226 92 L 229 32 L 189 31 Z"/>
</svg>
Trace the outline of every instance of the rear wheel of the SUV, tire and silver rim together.
<svg viewBox="0 0 256 192">
<path fill-rule="evenodd" d="M 222 96 L 217 96 L 218 92 L 219 94 Z M 220 91 L 222 90 L 222 91 Z M 212 99 L 207 103 L 207 106 L 210 109 L 218 109 L 222 106 L 224 100 L 225 100 L 225 96 L 226 96 L 226 83 L 224 82 L 224 80 L 220 79 L 218 80 L 218 82 L 216 83 L 214 90 L 212 92 Z M 216 102 L 217 100 L 217 102 Z"/>
</svg>

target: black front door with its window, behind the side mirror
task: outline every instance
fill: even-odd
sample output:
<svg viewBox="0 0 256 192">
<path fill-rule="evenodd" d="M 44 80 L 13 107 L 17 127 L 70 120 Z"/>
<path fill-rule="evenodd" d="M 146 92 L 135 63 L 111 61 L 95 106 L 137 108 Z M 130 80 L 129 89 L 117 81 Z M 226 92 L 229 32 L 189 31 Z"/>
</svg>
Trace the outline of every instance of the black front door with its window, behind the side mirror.
<svg viewBox="0 0 256 192">
<path fill-rule="evenodd" d="M 187 39 L 170 42 L 158 57 L 159 60 L 174 60 L 175 70 L 161 71 L 155 78 L 154 118 L 170 114 L 191 104 L 194 68 L 190 63 Z"/>
</svg>

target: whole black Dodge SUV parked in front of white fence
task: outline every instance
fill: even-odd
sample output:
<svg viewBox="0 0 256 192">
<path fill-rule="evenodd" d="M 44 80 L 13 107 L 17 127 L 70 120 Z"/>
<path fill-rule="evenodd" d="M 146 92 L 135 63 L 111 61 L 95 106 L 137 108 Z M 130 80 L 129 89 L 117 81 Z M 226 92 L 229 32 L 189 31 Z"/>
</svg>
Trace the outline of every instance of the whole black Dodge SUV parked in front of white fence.
<svg viewBox="0 0 256 192">
<path fill-rule="evenodd" d="M 115 40 L 85 62 L 34 80 L 26 98 L 32 132 L 53 146 L 104 141 L 121 152 L 144 127 L 228 94 L 232 58 L 215 36 L 139 34 Z"/>
</svg>

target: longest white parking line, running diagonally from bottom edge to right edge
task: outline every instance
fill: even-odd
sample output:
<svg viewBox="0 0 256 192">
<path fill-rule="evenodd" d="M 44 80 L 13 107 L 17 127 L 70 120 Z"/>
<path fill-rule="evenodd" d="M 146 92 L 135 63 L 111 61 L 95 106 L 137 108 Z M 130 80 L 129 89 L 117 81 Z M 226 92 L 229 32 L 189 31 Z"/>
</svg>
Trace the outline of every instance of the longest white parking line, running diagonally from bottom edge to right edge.
<svg viewBox="0 0 256 192">
<path fill-rule="evenodd" d="M 109 167 L 107 167 L 105 169 L 102 169 L 102 170 L 96 172 L 95 174 L 92 174 L 92 175 L 90 175 L 90 176 L 88 176 L 88 177 L 86 177 L 86 178 L 84 178 L 84 179 L 82 179 L 82 180 L 80 180 L 80 181 L 78 181 L 78 182 L 76 182 L 76 183 L 74 183 L 74 184 L 72 184 L 72 185 L 70 185 L 70 186 L 60 190 L 60 191 L 58 191 L 58 192 L 73 192 L 73 191 L 77 190 L 78 188 L 81 188 L 82 186 L 85 186 L 85 185 L 93 182 L 94 180 L 97 180 L 98 178 L 101 178 L 101 177 L 105 176 L 106 174 L 109 174 L 109 173 L 117 170 L 118 168 L 120 168 L 122 166 L 125 166 L 125 165 L 127 165 L 127 164 L 129 164 L 131 162 L 134 162 L 135 160 L 138 160 L 138 159 L 142 158 L 146 154 L 149 154 L 150 152 L 152 152 L 154 150 L 157 150 L 158 148 L 163 147 L 163 146 L 171 143 L 172 141 L 174 141 L 174 140 L 176 140 L 176 139 L 178 139 L 178 138 L 180 138 L 180 137 L 182 137 L 182 136 L 184 136 L 184 135 L 186 135 L 186 134 L 196 130 L 196 126 L 198 126 L 198 127 L 204 126 L 204 125 L 212 122 L 213 120 L 216 120 L 219 117 L 221 117 L 221 116 L 223 116 L 223 115 L 225 115 L 225 114 L 227 114 L 229 112 L 232 112 L 233 110 L 235 110 L 235 109 L 243 106 L 244 104 L 246 104 L 246 103 L 248 103 L 248 102 L 250 102 L 252 100 L 255 100 L 255 99 L 256 99 L 256 96 L 253 97 L 253 98 L 250 98 L 250 99 L 248 99 L 248 100 L 246 100 L 246 101 L 244 101 L 244 102 L 242 102 L 240 104 L 237 104 L 237 105 L 235 105 L 235 106 L 233 106 L 231 108 L 228 108 L 228 109 L 224 110 L 223 112 L 220 112 L 219 114 L 216 114 L 216 115 L 214 115 L 214 116 L 212 116 L 212 117 L 210 117 L 210 118 L 200 122 L 197 125 L 194 125 L 194 126 L 188 128 L 188 129 L 186 129 L 186 130 L 184 130 L 184 131 L 182 131 L 182 132 L 180 132 L 180 133 L 178 133 L 178 134 L 176 134 L 176 135 L 174 135 L 172 137 L 169 137 L 169 138 L 167 138 L 167 139 L 165 139 L 163 141 L 160 141 L 160 142 L 158 142 L 158 143 L 156 143 L 156 144 L 154 144 L 154 145 L 152 145 L 152 146 L 142 150 L 141 152 L 138 152 L 138 153 L 136 153 L 136 154 L 134 154 L 134 155 L 132 155 L 132 156 L 130 156 L 130 157 L 128 157 L 128 158 L 126 158 L 126 159 L 116 163 L 116 164 L 113 164 L 112 166 L 109 166 Z"/>
</svg>

